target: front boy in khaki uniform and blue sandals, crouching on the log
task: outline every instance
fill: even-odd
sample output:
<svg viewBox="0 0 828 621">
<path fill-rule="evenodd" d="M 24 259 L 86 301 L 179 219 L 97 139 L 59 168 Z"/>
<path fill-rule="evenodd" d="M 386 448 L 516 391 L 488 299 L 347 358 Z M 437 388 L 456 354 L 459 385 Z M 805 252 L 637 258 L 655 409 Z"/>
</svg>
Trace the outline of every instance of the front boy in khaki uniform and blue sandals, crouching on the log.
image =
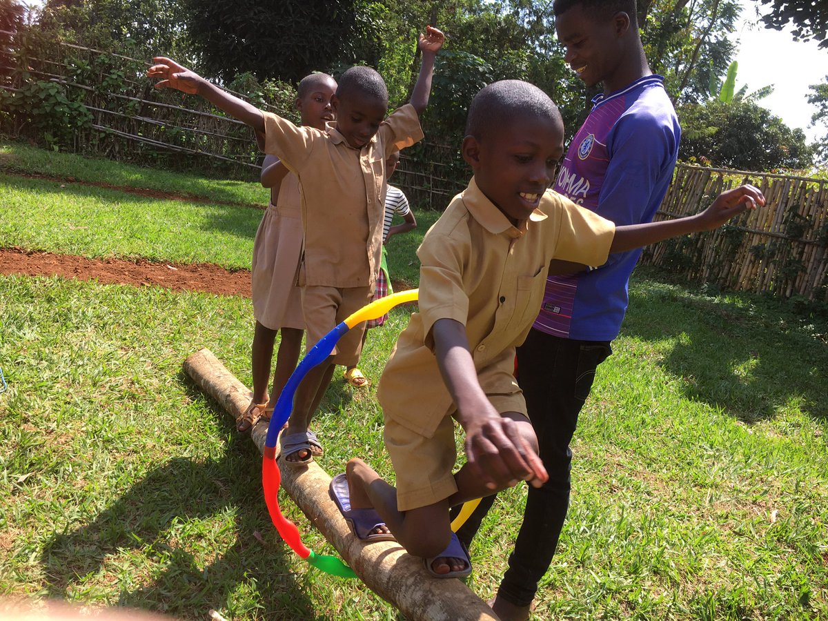
<svg viewBox="0 0 828 621">
<path fill-rule="evenodd" d="M 462 152 L 474 178 L 423 239 L 420 310 L 379 383 L 397 488 L 360 459 L 331 484 L 354 532 L 362 522 L 363 539 L 392 534 L 441 577 L 471 568 L 450 530 L 450 507 L 519 480 L 536 487 L 546 480 L 513 362 L 551 259 L 599 265 L 609 253 L 714 229 L 764 202 L 742 186 L 702 214 L 616 228 L 547 190 L 564 153 L 563 123 L 542 90 L 517 80 L 480 91 L 466 134 Z M 468 458 L 456 473 L 455 420 Z"/>
</svg>

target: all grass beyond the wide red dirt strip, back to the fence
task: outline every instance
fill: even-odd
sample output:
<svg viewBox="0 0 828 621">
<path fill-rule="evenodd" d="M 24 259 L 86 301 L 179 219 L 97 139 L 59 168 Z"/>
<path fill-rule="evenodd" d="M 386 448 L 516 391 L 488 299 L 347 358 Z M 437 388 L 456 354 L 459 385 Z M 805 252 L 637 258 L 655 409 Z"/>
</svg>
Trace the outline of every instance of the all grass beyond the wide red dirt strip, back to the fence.
<svg viewBox="0 0 828 621">
<path fill-rule="evenodd" d="M 0 248 L 21 246 L 89 258 L 142 257 L 250 268 L 261 210 L 159 200 L 80 183 L 27 179 L 15 176 L 14 172 L 70 176 L 79 181 L 106 180 L 112 185 L 152 187 L 167 192 L 186 191 L 208 200 L 242 200 L 257 195 L 259 200 L 266 200 L 267 190 L 258 182 L 228 181 L 228 190 L 223 187 L 224 181 L 180 173 L 156 174 L 137 166 L 0 142 Z M 388 265 L 394 280 L 416 283 L 419 262 L 415 251 L 438 215 L 416 211 L 418 228 L 391 239 Z"/>
</svg>

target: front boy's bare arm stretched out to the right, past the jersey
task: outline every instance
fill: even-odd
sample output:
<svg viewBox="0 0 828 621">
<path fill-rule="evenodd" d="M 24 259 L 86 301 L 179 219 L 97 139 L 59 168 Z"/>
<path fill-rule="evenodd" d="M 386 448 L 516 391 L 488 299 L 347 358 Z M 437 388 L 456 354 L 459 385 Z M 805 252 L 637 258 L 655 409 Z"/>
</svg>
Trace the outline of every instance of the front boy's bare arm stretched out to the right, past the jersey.
<svg viewBox="0 0 828 621">
<path fill-rule="evenodd" d="M 699 233 L 718 229 L 722 224 L 756 205 L 764 205 L 765 197 L 753 185 L 739 185 L 738 188 L 722 192 L 707 209 L 700 214 L 675 220 L 628 224 L 615 229 L 610 253 L 623 253 L 651 243 L 661 242 L 687 233 Z"/>
</svg>

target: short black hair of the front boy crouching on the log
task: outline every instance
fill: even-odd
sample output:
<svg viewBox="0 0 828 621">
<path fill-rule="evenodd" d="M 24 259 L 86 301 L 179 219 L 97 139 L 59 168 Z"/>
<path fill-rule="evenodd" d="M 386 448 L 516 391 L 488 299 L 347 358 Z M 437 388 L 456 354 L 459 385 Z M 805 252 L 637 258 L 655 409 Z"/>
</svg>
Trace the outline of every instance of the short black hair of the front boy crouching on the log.
<svg viewBox="0 0 828 621">
<path fill-rule="evenodd" d="M 563 124 L 549 95 L 520 79 L 503 79 L 474 95 L 466 119 L 466 136 L 480 140 L 493 128 L 503 127 L 517 117 L 550 118 Z"/>
</svg>

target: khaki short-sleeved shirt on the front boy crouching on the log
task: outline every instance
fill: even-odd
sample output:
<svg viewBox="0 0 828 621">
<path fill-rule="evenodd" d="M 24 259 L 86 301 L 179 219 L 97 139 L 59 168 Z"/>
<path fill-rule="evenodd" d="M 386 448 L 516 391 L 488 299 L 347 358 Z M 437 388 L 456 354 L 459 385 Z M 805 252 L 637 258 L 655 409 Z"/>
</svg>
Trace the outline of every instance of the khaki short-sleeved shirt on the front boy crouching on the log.
<svg viewBox="0 0 828 621">
<path fill-rule="evenodd" d="M 513 377 L 515 348 L 541 308 L 549 262 L 600 265 L 614 233 L 612 222 L 553 190 L 515 227 L 472 179 L 417 250 L 420 310 L 397 339 L 380 378 L 384 415 L 431 437 L 455 412 L 432 351 L 431 328 L 440 319 L 465 325 L 480 386 L 498 412 L 526 414 Z"/>
</svg>

